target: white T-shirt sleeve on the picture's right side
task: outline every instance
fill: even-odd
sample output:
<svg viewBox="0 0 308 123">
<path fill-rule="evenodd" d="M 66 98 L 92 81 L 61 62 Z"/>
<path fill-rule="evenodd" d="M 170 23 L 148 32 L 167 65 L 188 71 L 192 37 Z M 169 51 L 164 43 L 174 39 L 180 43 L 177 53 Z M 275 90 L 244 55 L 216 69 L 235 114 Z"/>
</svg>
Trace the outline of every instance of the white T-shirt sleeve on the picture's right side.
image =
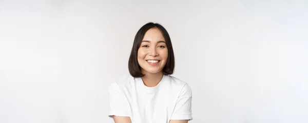
<svg viewBox="0 0 308 123">
<path fill-rule="evenodd" d="M 191 97 L 191 89 L 186 84 L 178 97 L 174 113 L 172 114 L 170 120 L 192 120 Z"/>
</svg>

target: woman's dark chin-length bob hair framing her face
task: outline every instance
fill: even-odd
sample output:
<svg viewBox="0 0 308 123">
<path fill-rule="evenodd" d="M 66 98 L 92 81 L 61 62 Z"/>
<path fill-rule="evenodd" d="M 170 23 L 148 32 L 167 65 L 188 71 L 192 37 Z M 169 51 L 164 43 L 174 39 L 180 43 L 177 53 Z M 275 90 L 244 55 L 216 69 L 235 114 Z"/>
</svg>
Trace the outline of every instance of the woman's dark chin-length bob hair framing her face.
<svg viewBox="0 0 308 123">
<path fill-rule="evenodd" d="M 166 41 L 166 46 L 168 49 L 168 58 L 167 58 L 166 65 L 162 70 L 163 74 L 170 75 L 174 72 L 175 55 L 174 55 L 174 51 L 172 48 L 171 39 L 169 37 L 169 34 L 167 30 L 160 24 L 149 22 L 139 29 L 139 31 L 137 32 L 133 40 L 132 49 L 131 49 L 130 56 L 128 59 L 128 70 L 129 70 L 130 75 L 133 77 L 143 77 L 144 76 L 144 74 L 141 73 L 140 66 L 138 63 L 138 50 L 139 50 L 139 47 L 141 45 L 142 39 L 146 31 L 151 28 L 158 28 L 162 32 L 165 38 L 165 41 Z"/>
</svg>

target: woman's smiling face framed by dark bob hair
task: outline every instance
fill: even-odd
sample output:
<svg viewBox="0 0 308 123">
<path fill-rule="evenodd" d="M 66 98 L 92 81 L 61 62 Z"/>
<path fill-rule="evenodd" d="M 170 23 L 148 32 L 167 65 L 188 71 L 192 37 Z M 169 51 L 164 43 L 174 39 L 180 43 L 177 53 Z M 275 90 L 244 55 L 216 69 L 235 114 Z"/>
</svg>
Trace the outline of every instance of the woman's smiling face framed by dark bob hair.
<svg viewBox="0 0 308 123">
<path fill-rule="evenodd" d="M 162 72 L 168 58 L 166 40 L 158 28 L 149 29 L 138 50 L 138 63 L 143 74 Z"/>
</svg>

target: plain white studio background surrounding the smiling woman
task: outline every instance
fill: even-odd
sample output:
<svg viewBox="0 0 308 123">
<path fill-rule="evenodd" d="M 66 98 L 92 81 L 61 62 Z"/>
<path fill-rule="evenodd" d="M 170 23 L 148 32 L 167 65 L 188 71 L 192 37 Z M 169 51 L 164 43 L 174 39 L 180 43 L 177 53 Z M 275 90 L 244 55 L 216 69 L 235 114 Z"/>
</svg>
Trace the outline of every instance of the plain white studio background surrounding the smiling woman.
<svg viewBox="0 0 308 123">
<path fill-rule="evenodd" d="M 291 0 L 0 0 L 0 122 L 112 122 L 147 22 L 170 34 L 189 122 L 308 122 L 308 2 Z"/>
</svg>

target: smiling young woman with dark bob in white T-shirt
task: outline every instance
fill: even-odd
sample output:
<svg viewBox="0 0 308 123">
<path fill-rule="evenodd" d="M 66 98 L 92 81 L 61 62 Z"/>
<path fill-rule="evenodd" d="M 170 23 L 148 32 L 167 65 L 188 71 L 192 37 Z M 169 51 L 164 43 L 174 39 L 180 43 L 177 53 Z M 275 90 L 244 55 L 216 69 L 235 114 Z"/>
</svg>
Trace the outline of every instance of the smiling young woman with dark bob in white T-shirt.
<svg viewBox="0 0 308 123">
<path fill-rule="evenodd" d="M 191 89 L 171 76 L 175 56 L 166 29 L 147 23 L 134 37 L 130 75 L 111 83 L 110 113 L 115 123 L 187 123 Z"/>
</svg>

